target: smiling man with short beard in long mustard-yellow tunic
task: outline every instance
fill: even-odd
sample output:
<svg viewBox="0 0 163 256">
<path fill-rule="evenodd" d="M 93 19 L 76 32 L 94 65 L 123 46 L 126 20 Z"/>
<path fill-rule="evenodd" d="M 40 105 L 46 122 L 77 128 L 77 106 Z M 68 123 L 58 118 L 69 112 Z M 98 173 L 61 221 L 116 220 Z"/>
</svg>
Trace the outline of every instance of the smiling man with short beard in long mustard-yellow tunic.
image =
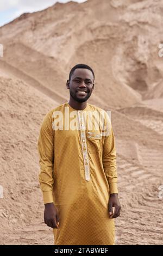
<svg viewBox="0 0 163 256">
<path fill-rule="evenodd" d="M 55 245 L 115 243 L 114 218 L 121 211 L 115 138 L 106 112 L 87 103 L 94 80 L 90 66 L 74 66 L 66 84 L 70 100 L 50 111 L 40 130 L 44 220 Z"/>
</svg>

